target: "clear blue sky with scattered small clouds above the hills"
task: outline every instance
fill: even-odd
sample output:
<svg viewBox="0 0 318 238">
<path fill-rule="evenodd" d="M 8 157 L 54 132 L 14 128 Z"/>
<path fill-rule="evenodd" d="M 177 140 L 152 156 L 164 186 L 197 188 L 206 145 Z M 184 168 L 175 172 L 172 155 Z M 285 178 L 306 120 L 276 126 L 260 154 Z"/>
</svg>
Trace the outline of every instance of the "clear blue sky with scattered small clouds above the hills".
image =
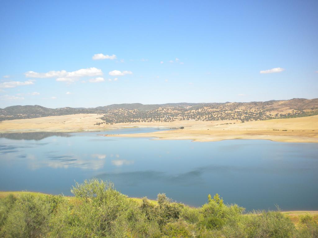
<svg viewBox="0 0 318 238">
<path fill-rule="evenodd" d="M 0 107 L 316 98 L 317 10 L 318 1 L 0 1 Z"/>
</svg>

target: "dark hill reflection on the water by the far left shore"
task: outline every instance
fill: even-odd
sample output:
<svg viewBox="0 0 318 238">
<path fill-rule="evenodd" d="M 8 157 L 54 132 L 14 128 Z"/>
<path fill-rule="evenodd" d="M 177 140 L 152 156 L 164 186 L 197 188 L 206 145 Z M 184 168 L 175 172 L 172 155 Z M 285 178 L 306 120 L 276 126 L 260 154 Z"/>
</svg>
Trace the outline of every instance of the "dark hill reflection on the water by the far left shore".
<svg viewBox="0 0 318 238">
<path fill-rule="evenodd" d="M 71 134 L 61 132 L 24 132 L 24 133 L 0 133 L 0 138 L 7 138 L 11 140 L 42 140 L 50 136 L 70 137 Z"/>
</svg>

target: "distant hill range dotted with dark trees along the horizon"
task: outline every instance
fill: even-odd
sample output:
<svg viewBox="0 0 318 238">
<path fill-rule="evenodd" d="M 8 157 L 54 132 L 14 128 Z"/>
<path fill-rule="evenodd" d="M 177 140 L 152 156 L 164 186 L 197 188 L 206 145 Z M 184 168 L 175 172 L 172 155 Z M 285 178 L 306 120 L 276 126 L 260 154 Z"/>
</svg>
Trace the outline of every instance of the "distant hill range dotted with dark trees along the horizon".
<svg viewBox="0 0 318 238">
<path fill-rule="evenodd" d="M 265 120 L 271 118 L 316 115 L 318 98 L 294 98 L 267 102 L 224 103 L 123 103 L 96 108 L 45 108 L 39 105 L 10 106 L 0 109 L 0 120 L 63 116 L 79 113 L 104 115 L 105 123 L 173 120 Z"/>
</svg>

